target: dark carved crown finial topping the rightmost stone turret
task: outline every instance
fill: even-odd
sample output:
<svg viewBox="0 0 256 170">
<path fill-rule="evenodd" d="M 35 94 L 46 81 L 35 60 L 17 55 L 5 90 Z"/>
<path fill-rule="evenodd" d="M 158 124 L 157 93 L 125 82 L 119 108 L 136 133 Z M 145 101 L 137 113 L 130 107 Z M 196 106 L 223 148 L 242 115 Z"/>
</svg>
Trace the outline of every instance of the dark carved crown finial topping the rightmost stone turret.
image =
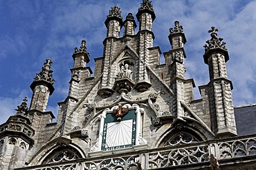
<svg viewBox="0 0 256 170">
<path fill-rule="evenodd" d="M 209 30 L 208 32 L 211 33 L 211 39 L 208 41 L 205 41 L 205 45 L 203 45 L 203 47 L 205 48 L 205 52 L 207 50 L 213 49 L 213 48 L 221 48 L 223 50 L 227 50 L 226 49 L 226 43 L 225 42 L 221 42 L 223 40 L 223 38 L 218 38 L 218 32 L 219 30 L 217 28 L 215 28 L 214 26 L 211 27 L 211 30 Z"/>
</svg>

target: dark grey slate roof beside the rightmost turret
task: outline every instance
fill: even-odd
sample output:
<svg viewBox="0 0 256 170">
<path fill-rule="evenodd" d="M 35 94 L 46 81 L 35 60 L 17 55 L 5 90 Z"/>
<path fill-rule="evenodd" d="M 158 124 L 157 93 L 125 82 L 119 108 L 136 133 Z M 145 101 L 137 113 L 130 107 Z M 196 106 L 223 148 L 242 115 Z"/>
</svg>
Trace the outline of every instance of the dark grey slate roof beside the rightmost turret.
<svg viewBox="0 0 256 170">
<path fill-rule="evenodd" d="M 256 104 L 235 107 L 235 121 L 239 136 L 256 134 Z"/>
</svg>

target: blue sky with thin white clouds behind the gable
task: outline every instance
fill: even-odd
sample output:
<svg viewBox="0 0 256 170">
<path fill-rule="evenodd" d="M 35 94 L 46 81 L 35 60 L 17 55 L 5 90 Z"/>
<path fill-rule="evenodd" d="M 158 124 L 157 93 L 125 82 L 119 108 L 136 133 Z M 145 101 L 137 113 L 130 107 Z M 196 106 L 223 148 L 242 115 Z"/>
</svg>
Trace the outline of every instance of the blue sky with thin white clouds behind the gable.
<svg viewBox="0 0 256 170">
<path fill-rule="evenodd" d="M 134 16 L 142 0 L 8 0 L 0 1 L 0 124 L 15 114 L 24 96 L 32 96 L 30 84 L 41 71 L 46 58 L 53 60 L 55 92 L 50 96 L 48 111 L 57 115 L 57 102 L 68 94 L 68 81 L 73 67 L 73 48 L 86 39 L 94 70 L 93 58 L 102 56 L 107 30 L 104 25 L 111 7 L 116 4 L 125 18 Z M 155 46 L 162 52 L 171 49 L 169 28 L 174 21 L 183 25 L 187 43 L 186 78 L 194 78 L 195 98 L 198 86 L 209 81 L 208 65 L 203 63 L 203 45 L 210 39 L 208 30 L 219 29 L 230 55 L 228 78 L 232 81 L 234 105 L 256 102 L 256 1 L 249 0 L 152 0 L 156 19 L 153 32 Z M 138 25 L 138 24 L 137 24 Z M 137 30 L 138 31 L 138 28 Z M 161 56 L 163 62 L 163 56 Z"/>
</svg>

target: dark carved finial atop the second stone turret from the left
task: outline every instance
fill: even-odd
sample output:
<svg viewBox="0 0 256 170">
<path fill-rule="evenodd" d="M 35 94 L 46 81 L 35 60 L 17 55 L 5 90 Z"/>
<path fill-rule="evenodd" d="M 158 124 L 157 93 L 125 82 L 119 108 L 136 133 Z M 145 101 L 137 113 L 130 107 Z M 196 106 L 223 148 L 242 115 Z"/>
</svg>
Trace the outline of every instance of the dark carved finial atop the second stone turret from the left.
<svg viewBox="0 0 256 170">
<path fill-rule="evenodd" d="M 34 81 L 48 81 L 53 85 L 55 80 L 53 78 L 53 70 L 50 70 L 52 63 L 53 61 L 51 61 L 51 59 L 46 59 L 46 62 L 44 62 L 44 66 L 42 67 L 42 71 L 37 72 Z"/>
</svg>

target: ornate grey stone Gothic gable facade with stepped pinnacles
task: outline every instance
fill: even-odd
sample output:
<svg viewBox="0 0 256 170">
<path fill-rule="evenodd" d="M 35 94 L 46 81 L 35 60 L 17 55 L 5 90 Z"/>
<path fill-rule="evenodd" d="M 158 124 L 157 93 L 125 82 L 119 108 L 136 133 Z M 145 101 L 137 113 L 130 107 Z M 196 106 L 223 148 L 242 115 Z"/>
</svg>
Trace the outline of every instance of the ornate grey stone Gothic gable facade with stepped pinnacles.
<svg viewBox="0 0 256 170">
<path fill-rule="evenodd" d="M 143 0 L 138 8 L 138 32 L 131 13 L 122 18 L 118 6 L 111 8 L 93 77 L 86 41 L 75 47 L 68 96 L 58 103 L 55 123 L 46 111 L 54 91 L 53 61 L 46 59 L 30 85 L 30 107 L 24 98 L 17 114 L 0 125 L 0 169 L 256 169 L 256 127 L 244 131 L 246 123 L 236 119 L 256 108 L 232 105 L 228 50 L 218 30 L 211 28 L 204 46 L 210 81 L 194 100 L 179 21 L 170 28 L 171 47 L 160 64 L 152 2 Z"/>
</svg>

